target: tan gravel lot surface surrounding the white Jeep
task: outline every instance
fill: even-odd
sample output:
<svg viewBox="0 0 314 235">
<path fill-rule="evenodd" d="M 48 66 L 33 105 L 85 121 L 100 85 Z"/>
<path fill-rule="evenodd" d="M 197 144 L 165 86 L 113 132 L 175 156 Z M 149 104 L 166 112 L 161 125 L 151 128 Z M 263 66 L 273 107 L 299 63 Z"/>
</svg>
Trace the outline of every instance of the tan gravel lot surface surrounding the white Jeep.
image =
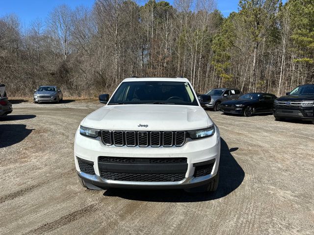
<svg viewBox="0 0 314 235">
<path fill-rule="evenodd" d="M 73 141 L 102 104 L 13 103 L 0 118 L 0 234 L 314 234 L 310 123 L 209 111 L 223 139 L 216 193 L 89 191 Z"/>
</svg>

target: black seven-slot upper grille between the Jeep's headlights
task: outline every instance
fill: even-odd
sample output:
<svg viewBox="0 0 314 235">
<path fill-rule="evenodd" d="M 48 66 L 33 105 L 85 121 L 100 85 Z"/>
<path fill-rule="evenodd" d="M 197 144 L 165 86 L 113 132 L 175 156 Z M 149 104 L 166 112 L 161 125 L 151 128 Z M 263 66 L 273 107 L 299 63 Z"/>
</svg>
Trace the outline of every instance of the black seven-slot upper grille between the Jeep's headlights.
<svg viewBox="0 0 314 235">
<path fill-rule="evenodd" d="M 185 142 L 185 131 L 102 131 L 105 145 L 128 147 L 180 147 Z"/>
</svg>

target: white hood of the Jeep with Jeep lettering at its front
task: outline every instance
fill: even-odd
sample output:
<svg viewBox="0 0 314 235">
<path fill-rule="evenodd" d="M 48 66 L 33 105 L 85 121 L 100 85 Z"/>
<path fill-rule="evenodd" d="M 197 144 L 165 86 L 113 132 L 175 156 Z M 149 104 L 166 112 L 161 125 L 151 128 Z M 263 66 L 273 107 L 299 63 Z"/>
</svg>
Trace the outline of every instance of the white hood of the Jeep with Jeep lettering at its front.
<svg viewBox="0 0 314 235">
<path fill-rule="evenodd" d="M 212 124 L 200 106 L 161 104 L 107 105 L 81 123 L 95 129 L 131 131 L 193 130 Z"/>
</svg>

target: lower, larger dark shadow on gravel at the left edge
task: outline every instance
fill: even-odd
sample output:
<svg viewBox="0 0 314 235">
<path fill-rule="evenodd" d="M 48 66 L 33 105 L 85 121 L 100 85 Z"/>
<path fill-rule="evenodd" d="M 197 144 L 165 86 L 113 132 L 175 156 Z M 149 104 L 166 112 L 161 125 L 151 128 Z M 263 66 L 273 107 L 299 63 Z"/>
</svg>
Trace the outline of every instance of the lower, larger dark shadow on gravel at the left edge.
<svg viewBox="0 0 314 235">
<path fill-rule="evenodd" d="M 0 124 L 0 148 L 23 141 L 31 132 L 23 124 Z"/>
</svg>

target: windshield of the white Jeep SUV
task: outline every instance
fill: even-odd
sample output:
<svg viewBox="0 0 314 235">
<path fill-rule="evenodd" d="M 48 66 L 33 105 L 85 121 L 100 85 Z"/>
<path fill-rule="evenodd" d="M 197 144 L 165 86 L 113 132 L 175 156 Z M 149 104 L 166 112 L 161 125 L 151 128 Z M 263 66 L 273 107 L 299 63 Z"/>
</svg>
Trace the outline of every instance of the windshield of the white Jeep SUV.
<svg viewBox="0 0 314 235">
<path fill-rule="evenodd" d="M 134 81 L 119 86 L 108 102 L 113 104 L 198 105 L 198 102 L 187 82 Z"/>
</svg>

